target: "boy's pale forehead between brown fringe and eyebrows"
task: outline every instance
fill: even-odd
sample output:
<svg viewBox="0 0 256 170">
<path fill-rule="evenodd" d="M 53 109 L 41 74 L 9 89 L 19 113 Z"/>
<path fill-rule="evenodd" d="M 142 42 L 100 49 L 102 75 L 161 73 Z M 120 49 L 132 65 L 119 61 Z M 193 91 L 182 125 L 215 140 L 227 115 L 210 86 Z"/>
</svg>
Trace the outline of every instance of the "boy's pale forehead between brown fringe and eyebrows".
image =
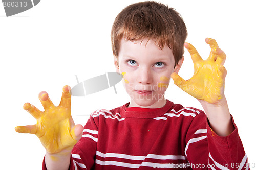
<svg viewBox="0 0 256 170">
<path fill-rule="evenodd" d="M 174 59 L 172 49 L 170 49 L 167 45 L 161 49 L 154 39 L 130 41 L 122 38 L 119 56 L 147 56 L 154 58 Z"/>
</svg>

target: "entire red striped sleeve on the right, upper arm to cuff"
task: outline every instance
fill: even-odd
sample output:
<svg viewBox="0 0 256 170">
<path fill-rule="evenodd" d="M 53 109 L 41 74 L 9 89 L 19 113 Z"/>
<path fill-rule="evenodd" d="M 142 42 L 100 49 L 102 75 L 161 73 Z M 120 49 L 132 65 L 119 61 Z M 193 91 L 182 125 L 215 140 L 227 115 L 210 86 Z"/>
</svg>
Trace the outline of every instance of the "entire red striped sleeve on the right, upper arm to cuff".
<svg viewBox="0 0 256 170">
<path fill-rule="evenodd" d="M 228 136 L 211 130 L 204 113 L 191 122 L 186 135 L 185 155 L 192 169 L 249 169 L 236 124 Z"/>
</svg>

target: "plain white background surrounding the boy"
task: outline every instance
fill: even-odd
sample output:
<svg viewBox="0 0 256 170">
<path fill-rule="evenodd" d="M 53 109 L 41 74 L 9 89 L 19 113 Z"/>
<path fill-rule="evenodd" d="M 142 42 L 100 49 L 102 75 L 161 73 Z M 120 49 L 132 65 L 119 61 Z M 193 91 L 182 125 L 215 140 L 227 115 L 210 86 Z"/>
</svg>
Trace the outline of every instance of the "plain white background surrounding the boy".
<svg viewBox="0 0 256 170">
<path fill-rule="evenodd" d="M 45 149 L 31 134 L 19 134 L 18 125 L 33 125 L 35 119 L 23 110 L 30 102 L 43 110 L 38 93 L 47 91 L 53 103 L 60 102 L 62 87 L 114 72 L 110 31 L 116 15 L 138 1 L 42 0 L 34 8 L 6 17 L 0 5 L 1 164 L 9 169 L 40 169 Z M 161 1 L 183 17 L 187 42 L 206 59 L 206 37 L 215 38 L 226 53 L 228 71 L 225 95 L 238 126 L 249 162 L 255 156 L 255 16 L 253 1 Z M 179 72 L 193 75 L 188 52 Z M 84 125 L 98 108 L 113 109 L 129 102 L 122 83 L 113 88 L 72 98 L 72 115 Z M 200 103 L 173 83 L 166 99 L 202 109 Z M 255 165 L 256 166 L 256 165 Z M 253 168 L 252 168 L 253 169 Z"/>
</svg>

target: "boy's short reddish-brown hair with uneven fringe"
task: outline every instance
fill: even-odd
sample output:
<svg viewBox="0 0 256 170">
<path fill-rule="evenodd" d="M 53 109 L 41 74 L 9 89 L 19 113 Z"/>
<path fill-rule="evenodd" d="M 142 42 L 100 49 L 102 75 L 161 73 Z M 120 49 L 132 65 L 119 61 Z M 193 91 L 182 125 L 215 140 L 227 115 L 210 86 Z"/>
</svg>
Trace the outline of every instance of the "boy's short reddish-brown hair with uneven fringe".
<svg viewBox="0 0 256 170">
<path fill-rule="evenodd" d="M 112 51 L 118 59 L 122 38 L 130 41 L 154 39 L 161 49 L 173 50 L 175 66 L 184 54 L 186 25 L 174 8 L 154 1 L 135 3 L 124 8 L 116 17 L 112 30 Z"/>
</svg>

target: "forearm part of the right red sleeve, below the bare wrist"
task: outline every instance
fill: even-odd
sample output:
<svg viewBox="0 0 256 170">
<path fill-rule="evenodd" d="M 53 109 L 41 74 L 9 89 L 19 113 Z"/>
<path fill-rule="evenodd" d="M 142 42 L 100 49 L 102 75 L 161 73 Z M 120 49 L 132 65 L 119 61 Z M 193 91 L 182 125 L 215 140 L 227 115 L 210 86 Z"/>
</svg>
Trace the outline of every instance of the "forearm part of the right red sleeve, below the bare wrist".
<svg viewBox="0 0 256 170">
<path fill-rule="evenodd" d="M 231 120 L 234 131 L 228 136 L 217 135 L 209 126 L 206 119 L 206 128 L 209 144 L 209 163 L 218 168 L 225 169 L 249 169 L 248 159 L 244 151 L 242 141 L 238 134 L 238 128 Z M 224 167 L 223 167 L 224 166 Z"/>
</svg>

